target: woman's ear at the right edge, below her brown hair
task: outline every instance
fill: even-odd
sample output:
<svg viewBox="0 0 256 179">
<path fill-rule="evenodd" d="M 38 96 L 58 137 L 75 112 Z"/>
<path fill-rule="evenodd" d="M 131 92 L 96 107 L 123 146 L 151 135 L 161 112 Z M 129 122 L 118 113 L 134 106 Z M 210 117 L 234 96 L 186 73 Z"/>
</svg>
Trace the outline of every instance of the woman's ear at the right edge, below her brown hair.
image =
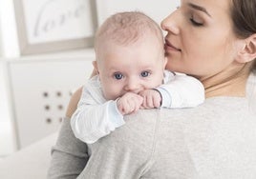
<svg viewBox="0 0 256 179">
<path fill-rule="evenodd" d="M 237 62 L 247 63 L 256 58 L 256 33 L 250 35 L 244 41 L 244 48 L 239 51 Z"/>
</svg>

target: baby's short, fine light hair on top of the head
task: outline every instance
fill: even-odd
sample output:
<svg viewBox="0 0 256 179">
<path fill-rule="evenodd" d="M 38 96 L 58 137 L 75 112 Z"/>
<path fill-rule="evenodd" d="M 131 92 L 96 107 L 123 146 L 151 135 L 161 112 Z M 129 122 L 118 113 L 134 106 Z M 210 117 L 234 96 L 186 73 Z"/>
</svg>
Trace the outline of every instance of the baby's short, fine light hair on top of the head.
<svg viewBox="0 0 256 179">
<path fill-rule="evenodd" d="M 118 12 L 105 20 L 96 31 L 95 49 L 104 40 L 112 40 L 118 45 L 128 45 L 152 32 L 163 44 L 160 26 L 152 18 L 140 11 Z"/>
</svg>

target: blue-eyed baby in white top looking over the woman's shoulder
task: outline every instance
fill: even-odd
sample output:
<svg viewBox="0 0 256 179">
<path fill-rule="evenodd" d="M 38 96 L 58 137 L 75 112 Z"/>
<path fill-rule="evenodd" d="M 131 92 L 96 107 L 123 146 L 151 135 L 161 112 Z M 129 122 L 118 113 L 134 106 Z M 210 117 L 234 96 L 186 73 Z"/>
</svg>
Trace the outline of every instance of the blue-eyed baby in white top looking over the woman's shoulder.
<svg viewBox="0 0 256 179">
<path fill-rule="evenodd" d="M 97 75 L 88 80 L 71 119 L 75 137 L 88 144 L 125 124 L 139 109 L 192 108 L 203 103 L 203 85 L 164 70 L 159 25 L 142 12 L 119 12 L 96 31 Z"/>
</svg>

